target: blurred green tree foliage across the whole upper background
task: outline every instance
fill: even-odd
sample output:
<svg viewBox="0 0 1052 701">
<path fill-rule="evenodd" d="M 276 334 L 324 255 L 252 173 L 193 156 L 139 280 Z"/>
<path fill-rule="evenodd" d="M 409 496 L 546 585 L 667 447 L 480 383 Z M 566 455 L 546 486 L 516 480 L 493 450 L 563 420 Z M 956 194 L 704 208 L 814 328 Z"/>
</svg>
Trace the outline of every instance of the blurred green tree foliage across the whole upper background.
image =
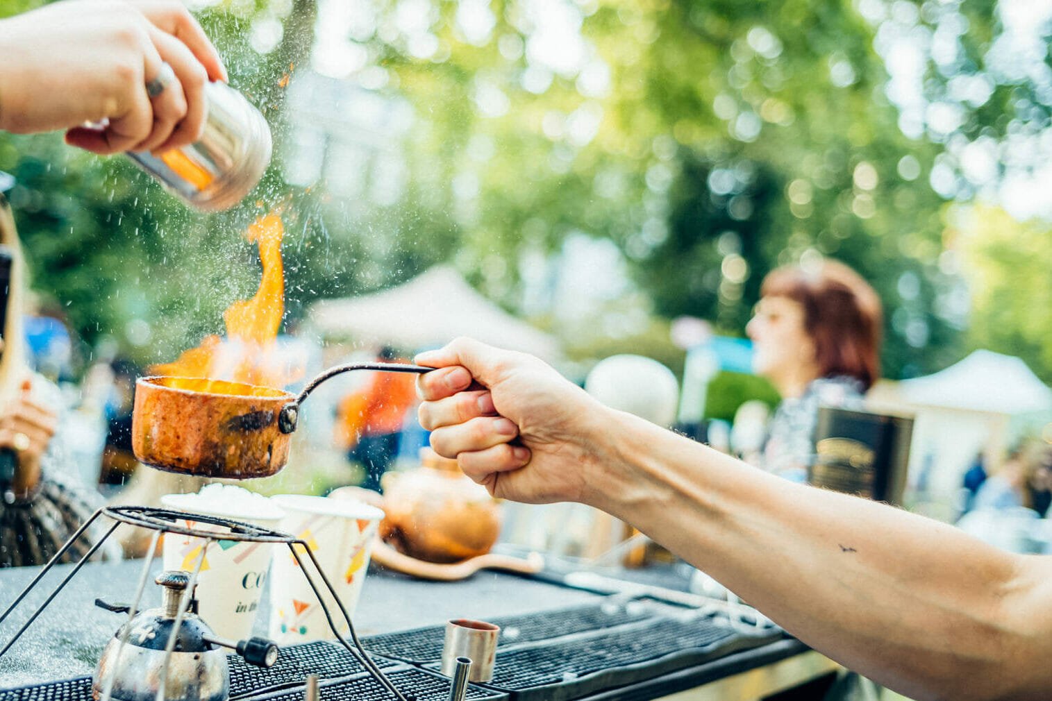
<svg viewBox="0 0 1052 701">
<path fill-rule="evenodd" d="M 1045 74 L 991 58 L 1006 36 L 992 0 L 370 0 L 341 38 L 366 60 L 340 84 L 411 109 L 407 176 L 394 203 L 348 199 L 324 173 L 289 186 L 283 168 L 302 126 L 287 78 L 318 62 L 312 35 L 339 4 L 224 0 L 201 14 L 275 132 L 259 202 L 195 214 L 123 159 L 0 135 L 36 285 L 89 342 L 127 343 L 128 322 L 145 319 L 154 334 L 136 352 L 153 360 L 217 330 L 257 279 L 235 234 L 280 204 L 294 315 L 447 259 L 515 309 L 519 262 L 585 233 L 616 244 L 649 311 L 741 333 L 766 272 L 832 255 L 885 301 L 886 373 L 915 374 L 959 354 L 942 210 L 978 188 L 960 149 L 1047 118 Z M 919 37 L 928 62 L 912 106 L 887 70 L 902 36 Z M 955 119 L 928 119 L 932 104 Z"/>
</svg>

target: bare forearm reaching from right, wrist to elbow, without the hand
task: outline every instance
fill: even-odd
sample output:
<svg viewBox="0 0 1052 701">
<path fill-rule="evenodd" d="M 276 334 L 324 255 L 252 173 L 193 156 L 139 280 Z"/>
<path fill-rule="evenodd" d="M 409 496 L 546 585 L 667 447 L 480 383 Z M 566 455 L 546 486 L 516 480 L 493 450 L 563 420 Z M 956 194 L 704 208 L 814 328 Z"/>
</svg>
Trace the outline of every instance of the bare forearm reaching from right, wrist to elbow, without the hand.
<svg viewBox="0 0 1052 701">
<path fill-rule="evenodd" d="M 603 493 L 588 500 L 833 659 L 916 698 L 1000 698 L 1047 666 L 1048 617 L 1017 613 L 1044 596 L 1032 574 L 1044 562 L 772 477 L 625 414 L 606 418 L 616 437 L 596 461 Z"/>
</svg>

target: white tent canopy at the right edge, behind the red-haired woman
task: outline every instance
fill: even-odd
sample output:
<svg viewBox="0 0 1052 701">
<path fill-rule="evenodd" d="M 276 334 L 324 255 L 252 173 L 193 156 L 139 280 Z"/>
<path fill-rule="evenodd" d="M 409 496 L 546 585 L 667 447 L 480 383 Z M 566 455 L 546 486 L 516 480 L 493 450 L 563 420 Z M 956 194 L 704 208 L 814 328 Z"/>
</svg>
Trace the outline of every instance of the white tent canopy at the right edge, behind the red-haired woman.
<svg viewBox="0 0 1052 701">
<path fill-rule="evenodd" d="M 1012 355 L 977 350 L 925 377 L 904 380 L 902 398 L 913 405 L 1010 416 L 1052 410 L 1050 390 Z"/>
</svg>

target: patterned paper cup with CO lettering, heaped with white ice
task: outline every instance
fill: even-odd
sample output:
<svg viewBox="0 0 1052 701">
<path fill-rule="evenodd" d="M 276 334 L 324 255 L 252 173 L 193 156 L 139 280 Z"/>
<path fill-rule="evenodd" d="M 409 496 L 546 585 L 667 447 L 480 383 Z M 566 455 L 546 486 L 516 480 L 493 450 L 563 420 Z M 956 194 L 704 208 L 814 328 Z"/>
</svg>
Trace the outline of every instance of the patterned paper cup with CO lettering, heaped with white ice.
<svg viewBox="0 0 1052 701">
<path fill-rule="evenodd" d="M 167 494 L 161 497 L 161 504 L 267 529 L 277 529 L 285 515 L 267 497 L 232 484 L 208 484 L 197 494 Z M 179 524 L 194 522 L 187 519 Z M 218 530 L 210 524 L 205 528 Z M 164 569 L 194 572 L 204 543 L 204 538 L 164 534 Z M 198 613 L 216 635 L 232 640 L 251 636 L 272 548 L 270 543 L 236 540 L 216 540 L 208 545 L 198 575 Z"/>
</svg>

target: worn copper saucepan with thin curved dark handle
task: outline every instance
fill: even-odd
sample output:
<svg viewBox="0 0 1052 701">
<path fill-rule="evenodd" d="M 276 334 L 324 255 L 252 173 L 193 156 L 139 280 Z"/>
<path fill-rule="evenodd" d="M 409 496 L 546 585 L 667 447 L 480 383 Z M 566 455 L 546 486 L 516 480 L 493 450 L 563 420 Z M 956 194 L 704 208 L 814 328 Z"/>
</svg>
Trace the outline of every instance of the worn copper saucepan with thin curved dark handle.
<svg viewBox="0 0 1052 701">
<path fill-rule="evenodd" d="M 351 370 L 424 373 L 404 363 L 329 368 L 299 395 L 269 387 L 197 377 L 140 377 L 132 414 L 136 459 L 199 477 L 268 477 L 288 461 L 300 405 L 320 384 Z"/>
</svg>

